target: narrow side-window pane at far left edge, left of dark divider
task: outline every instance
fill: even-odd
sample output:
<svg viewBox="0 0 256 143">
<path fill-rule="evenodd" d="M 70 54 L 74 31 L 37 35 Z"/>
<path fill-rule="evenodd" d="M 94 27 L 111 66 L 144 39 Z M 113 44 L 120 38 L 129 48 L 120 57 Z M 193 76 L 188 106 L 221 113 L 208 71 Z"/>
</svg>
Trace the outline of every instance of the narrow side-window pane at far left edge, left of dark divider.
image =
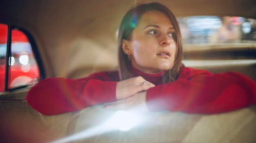
<svg viewBox="0 0 256 143">
<path fill-rule="evenodd" d="M 0 24 L 0 92 L 4 91 L 5 82 L 7 28 L 7 25 Z"/>
</svg>

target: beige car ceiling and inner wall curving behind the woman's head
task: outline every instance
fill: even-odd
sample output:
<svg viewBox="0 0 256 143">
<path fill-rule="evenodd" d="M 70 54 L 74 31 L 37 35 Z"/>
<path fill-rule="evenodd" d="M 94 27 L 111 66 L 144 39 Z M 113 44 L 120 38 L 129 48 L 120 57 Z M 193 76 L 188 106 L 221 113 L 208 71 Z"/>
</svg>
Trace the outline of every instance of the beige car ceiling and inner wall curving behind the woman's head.
<svg viewBox="0 0 256 143">
<path fill-rule="evenodd" d="M 115 68 L 116 31 L 122 17 L 137 2 L 155 1 L 166 5 L 176 17 L 256 18 L 255 0 L 1 0 L 0 22 L 31 33 L 46 77 L 78 78 Z M 85 69 L 90 70 L 85 73 Z"/>
</svg>

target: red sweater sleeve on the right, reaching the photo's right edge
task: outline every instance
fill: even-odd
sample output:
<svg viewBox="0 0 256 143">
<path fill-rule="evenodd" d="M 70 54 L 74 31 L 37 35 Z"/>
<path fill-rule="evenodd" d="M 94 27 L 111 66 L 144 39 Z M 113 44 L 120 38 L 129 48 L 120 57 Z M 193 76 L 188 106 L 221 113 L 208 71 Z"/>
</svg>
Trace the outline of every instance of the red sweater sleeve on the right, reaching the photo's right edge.
<svg viewBox="0 0 256 143">
<path fill-rule="evenodd" d="M 146 102 L 150 111 L 223 113 L 256 104 L 256 83 L 235 72 L 190 69 L 173 83 L 150 88 Z"/>
</svg>

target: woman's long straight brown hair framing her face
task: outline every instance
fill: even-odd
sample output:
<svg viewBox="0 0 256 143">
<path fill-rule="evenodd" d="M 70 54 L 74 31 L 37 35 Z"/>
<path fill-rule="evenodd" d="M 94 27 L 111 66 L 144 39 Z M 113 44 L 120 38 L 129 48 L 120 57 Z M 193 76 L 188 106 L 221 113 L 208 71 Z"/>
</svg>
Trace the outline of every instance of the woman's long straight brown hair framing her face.
<svg viewBox="0 0 256 143">
<path fill-rule="evenodd" d="M 123 20 L 119 26 L 117 46 L 118 46 L 118 64 L 119 64 L 119 78 L 120 80 L 126 80 L 134 77 L 132 74 L 131 64 L 128 56 L 122 49 L 122 40 L 130 40 L 133 30 L 137 27 L 141 16 L 148 11 L 160 11 L 165 13 L 173 23 L 173 27 L 176 30 L 177 36 L 177 52 L 175 54 L 175 60 L 173 67 L 166 71 L 164 75 L 164 82 L 173 82 L 179 74 L 180 66 L 182 66 L 182 39 L 178 22 L 173 13 L 164 5 L 153 2 L 148 4 L 136 4 L 124 15 Z"/>
</svg>

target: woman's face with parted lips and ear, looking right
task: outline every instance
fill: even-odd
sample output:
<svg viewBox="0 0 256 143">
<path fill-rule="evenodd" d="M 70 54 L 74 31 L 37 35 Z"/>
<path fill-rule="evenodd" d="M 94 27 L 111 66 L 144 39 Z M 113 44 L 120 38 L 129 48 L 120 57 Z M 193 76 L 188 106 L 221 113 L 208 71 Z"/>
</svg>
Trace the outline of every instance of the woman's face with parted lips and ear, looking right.
<svg viewBox="0 0 256 143">
<path fill-rule="evenodd" d="M 130 54 L 133 67 L 148 74 L 171 69 L 177 50 L 176 33 L 171 20 L 160 11 L 149 11 L 122 48 Z"/>
</svg>

